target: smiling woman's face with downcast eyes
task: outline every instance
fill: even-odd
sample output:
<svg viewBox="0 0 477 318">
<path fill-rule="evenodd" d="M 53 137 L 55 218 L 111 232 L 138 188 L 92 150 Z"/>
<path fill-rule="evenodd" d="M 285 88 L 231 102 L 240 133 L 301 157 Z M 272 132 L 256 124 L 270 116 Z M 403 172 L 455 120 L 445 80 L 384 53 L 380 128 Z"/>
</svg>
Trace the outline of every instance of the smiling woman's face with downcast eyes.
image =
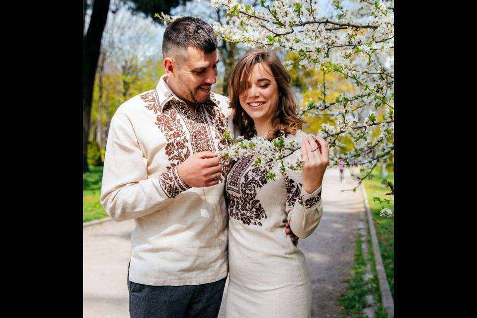
<svg viewBox="0 0 477 318">
<path fill-rule="evenodd" d="M 255 127 L 271 123 L 278 107 L 278 86 L 270 68 L 257 63 L 248 79 L 248 89 L 239 96 L 240 106 L 253 119 Z"/>
</svg>

